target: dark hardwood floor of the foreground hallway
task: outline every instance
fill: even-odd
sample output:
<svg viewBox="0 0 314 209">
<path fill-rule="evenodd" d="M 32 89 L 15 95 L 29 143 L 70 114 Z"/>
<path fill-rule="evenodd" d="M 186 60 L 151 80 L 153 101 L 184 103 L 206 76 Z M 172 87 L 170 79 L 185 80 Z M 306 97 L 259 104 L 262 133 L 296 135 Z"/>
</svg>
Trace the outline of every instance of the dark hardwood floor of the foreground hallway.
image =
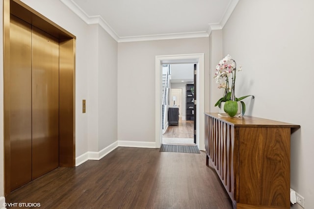
<svg viewBox="0 0 314 209">
<path fill-rule="evenodd" d="M 59 167 L 7 197 L 41 209 L 232 209 L 206 154 L 118 147 L 100 161 Z"/>
</svg>

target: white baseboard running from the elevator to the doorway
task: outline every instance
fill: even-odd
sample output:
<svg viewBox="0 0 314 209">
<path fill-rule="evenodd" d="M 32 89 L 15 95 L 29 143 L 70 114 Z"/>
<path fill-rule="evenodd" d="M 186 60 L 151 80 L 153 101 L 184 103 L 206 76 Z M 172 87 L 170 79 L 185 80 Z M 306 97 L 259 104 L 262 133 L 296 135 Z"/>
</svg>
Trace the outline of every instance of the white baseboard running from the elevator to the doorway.
<svg viewBox="0 0 314 209">
<path fill-rule="evenodd" d="M 149 141 L 126 141 L 126 140 L 118 140 L 105 147 L 99 152 L 85 152 L 84 154 L 78 156 L 75 159 L 75 166 L 78 166 L 82 163 L 85 163 L 88 160 L 96 160 L 99 161 L 107 154 L 109 154 L 112 150 L 117 148 L 118 146 L 122 147 L 141 147 L 141 148 L 158 148 L 156 147 L 156 142 Z"/>
</svg>

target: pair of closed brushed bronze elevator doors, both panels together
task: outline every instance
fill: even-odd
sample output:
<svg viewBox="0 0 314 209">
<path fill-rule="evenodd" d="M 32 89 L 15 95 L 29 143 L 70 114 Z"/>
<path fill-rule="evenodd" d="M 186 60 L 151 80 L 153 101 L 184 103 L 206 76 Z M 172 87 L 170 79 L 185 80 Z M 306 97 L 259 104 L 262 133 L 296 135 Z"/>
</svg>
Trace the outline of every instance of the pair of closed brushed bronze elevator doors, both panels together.
<svg viewBox="0 0 314 209">
<path fill-rule="evenodd" d="M 59 166 L 59 44 L 11 15 L 11 190 Z"/>
</svg>

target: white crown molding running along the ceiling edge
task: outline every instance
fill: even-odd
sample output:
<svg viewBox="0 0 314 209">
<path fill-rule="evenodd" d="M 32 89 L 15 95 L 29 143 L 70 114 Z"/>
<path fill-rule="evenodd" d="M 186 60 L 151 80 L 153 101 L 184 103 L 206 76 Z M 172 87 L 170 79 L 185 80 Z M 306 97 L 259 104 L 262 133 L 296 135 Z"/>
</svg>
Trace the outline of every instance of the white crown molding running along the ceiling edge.
<svg viewBox="0 0 314 209">
<path fill-rule="evenodd" d="M 88 16 L 73 0 L 60 0 L 64 5 L 69 7 L 80 19 L 86 24 L 99 24 L 105 31 L 118 43 L 139 42 L 139 41 L 156 41 L 167 39 L 186 39 L 186 38 L 204 38 L 209 37 L 212 30 L 221 30 L 229 20 L 239 0 L 231 0 L 220 23 L 209 24 L 208 31 L 192 32 L 192 33 L 172 33 L 157 34 L 148 36 L 129 36 L 119 37 L 118 34 L 110 27 L 105 20 L 97 16 Z"/>
</svg>

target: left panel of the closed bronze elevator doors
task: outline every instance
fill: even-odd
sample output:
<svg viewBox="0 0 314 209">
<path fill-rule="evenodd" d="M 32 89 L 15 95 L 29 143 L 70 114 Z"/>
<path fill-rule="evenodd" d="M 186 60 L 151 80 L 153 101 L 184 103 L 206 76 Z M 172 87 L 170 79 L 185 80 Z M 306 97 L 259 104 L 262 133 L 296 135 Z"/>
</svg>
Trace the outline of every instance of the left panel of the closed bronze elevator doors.
<svg viewBox="0 0 314 209">
<path fill-rule="evenodd" d="M 11 190 L 31 181 L 31 25 L 10 21 Z"/>
</svg>

